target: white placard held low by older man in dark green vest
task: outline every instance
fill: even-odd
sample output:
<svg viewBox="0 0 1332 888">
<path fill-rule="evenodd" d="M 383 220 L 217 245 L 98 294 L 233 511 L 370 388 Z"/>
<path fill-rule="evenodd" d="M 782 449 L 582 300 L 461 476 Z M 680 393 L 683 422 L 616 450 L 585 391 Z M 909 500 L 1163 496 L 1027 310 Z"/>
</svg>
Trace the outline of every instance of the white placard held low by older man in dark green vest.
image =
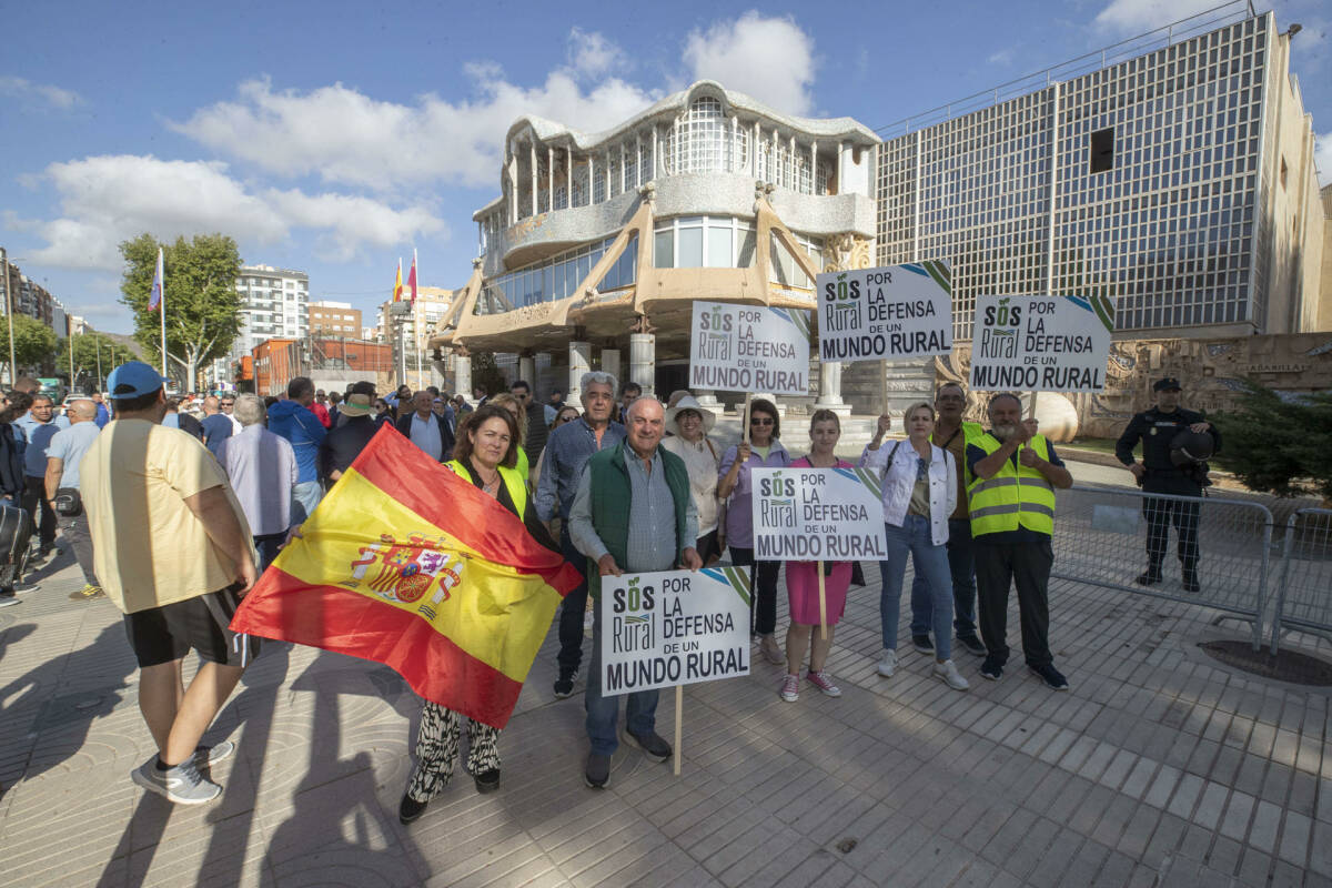
<svg viewBox="0 0 1332 888">
<path fill-rule="evenodd" d="M 602 576 L 602 695 L 749 675 L 749 602 L 747 568 Z"/>
</svg>

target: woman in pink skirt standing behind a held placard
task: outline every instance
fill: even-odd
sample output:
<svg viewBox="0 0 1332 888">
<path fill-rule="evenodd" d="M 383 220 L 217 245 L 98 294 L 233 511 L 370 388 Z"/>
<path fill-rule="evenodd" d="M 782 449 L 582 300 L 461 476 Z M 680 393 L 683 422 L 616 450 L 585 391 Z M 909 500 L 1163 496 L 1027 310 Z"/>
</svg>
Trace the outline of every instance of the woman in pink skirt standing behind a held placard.
<svg viewBox="0 0 1332 888">
<path fill-rule="evenodd" d="M 831 410 L 817 410 L 810 418 L 810 455 L 791 463 L 793 469 L 851 469 L 832 451 L 842 437 L 842 423 Z M 846 590 L 851 584 L 851 562 L 823 562 L 823 598 L 827 610 L 829 636 L 814 632 L 819 622 L 819 562 L 786 562 L 786 592 L 791 599 L 791 626 L 786 630 L 786 678 L 781 696 L 787 703 L 801 698 L 801 666 L 810 650 L 806 678 L 829 696 L 842 696 L 823 664 L 832 647 L 832 627 L 846 608 Z M 813 643 L 811 643 L 813 638 Z"/>
</svg>

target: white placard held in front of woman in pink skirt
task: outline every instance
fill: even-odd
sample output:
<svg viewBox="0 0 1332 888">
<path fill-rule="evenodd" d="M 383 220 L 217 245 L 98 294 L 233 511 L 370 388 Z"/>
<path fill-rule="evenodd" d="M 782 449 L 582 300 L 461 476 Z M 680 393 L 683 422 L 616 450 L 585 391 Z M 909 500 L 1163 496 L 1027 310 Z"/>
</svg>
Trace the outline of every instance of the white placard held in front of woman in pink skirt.
<svg viewBox="0 0 1332 888">
<path fill-rule="evenodd" d="M 882 473 L 753 469 L 754 558 L 883 560 Z"/>
</svg>

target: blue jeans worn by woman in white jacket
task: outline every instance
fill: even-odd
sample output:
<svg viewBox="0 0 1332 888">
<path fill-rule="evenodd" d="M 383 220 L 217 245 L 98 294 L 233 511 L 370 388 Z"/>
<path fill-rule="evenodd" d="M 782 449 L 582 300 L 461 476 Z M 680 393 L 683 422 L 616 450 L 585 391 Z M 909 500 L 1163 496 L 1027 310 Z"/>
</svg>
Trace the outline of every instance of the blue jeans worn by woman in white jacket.
<svg viewBox="0 0 1332 888">
<path fill-rule="evenodd" d="M 934 628 L 935 658 L 952 656 L 952 582 L 948 578 L 948 558 L 943 546 L 935 546 L 930 537 L 930 519 L 907 515 L 900 527 L 883 526 L 888 538 L 888 558 L 879 562 L 883 584 L 879 591 L 879 618 L 883 623 L 883 647 L 898 648 L 898 615 L 902 610 L 902 580 L 907 570 L 907 554 L 916 576 L 924 576 L 930 594 Z"/>
</svg>

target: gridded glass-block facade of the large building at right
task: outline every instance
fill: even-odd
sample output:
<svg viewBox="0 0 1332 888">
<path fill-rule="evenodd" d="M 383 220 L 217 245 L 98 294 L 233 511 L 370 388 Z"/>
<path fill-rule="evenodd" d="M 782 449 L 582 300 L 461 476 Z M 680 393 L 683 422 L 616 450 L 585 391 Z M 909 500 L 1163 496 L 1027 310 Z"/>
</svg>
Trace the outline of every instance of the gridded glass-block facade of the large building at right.
<svg viewBox="0 0 1332 888">
<path fill-rule="evenodd" d="M 963 339 L 983 293 L 1106 293 L 1139 334 L 1265 332 L 1273 29 L 1245 19 L 886 141 L 879 264 L 952 264 Z"/>
</svg>

